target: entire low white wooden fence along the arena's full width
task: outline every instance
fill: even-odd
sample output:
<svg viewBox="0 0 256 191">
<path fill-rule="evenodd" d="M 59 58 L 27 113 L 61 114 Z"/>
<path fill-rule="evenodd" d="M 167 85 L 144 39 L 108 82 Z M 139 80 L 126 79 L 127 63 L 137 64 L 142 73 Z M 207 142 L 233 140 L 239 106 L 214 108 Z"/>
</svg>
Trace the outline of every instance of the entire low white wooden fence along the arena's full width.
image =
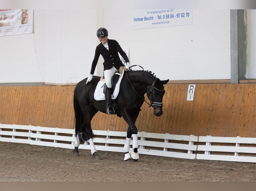
<svg viewBox="0 0 256 191">
<path fill-rule="evenodd" d="M 93 132 L 97 150 L 123 152 L 126 132 Z M 0 124 L 0 141 L 74 149 L 75 130 Z M 140 154 L 256 163 L 256 138 L 138 132 L 138 144 Z M 80 144 L 79 149 L 90 149 L 89 142 Z"/>
</svg>

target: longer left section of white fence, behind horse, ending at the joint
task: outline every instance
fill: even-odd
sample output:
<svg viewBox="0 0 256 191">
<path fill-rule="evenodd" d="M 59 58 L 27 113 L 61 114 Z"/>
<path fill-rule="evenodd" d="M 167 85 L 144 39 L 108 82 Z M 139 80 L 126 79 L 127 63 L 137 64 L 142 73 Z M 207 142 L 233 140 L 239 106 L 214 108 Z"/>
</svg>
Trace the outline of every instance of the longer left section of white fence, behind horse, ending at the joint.
<svg viewBox="0 0 256 191">
<path fill-rule="evenodd" d="M 22 130 L 22 132 L 21 132 Z M 26 131 L 26 132 L 24 132 Z M 123 152 L 126 132 L 93 131 L 97 150 Z M 148 140 L 150 139 L 150 140 Z M 0 141 L 74 149 L 75 130 L 32 125 L 0 124 Z M 195 159 L 198 136 L 138 132 L 140 154 Z M 130 143 L 132 145 L 132 141 Z M 89 142 L 79 149 L 91 149 Z M 132 148 L 130 148 L 132 151 Z"/>
</svg>

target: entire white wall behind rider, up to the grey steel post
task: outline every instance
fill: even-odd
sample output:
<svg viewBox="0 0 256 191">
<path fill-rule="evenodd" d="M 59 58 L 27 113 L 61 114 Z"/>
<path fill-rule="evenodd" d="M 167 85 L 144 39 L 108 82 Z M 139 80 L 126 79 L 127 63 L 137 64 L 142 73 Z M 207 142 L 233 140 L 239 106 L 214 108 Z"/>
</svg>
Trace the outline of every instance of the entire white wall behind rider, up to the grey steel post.
<svg viewBox="0 0 256 191">
<path fill-rule="evenodd" d="M 132 65 L 160 79 L 230 79 L 230 10 L 193 10 L 193 25 L 131 30 L 130 9 L 35 9 L 33 34 L 0 37 L 0 83 L 79 82 L 90 73 L 101 26 L 129 47 Z"/>
</svg>

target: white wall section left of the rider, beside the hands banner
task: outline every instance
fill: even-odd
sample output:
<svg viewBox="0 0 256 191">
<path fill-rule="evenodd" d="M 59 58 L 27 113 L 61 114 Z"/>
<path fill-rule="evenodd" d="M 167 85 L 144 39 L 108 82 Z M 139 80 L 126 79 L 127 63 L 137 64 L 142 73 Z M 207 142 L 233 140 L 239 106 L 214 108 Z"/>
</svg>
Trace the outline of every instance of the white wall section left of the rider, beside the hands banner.
<svg viewBox="0 0 256 191">
<path fill-rule="evenodd" d="M 0 37 L 0 83 L 76 83 L 90 73 L 96 10 L 34 10 L 34 33 Z"/>
</svg>

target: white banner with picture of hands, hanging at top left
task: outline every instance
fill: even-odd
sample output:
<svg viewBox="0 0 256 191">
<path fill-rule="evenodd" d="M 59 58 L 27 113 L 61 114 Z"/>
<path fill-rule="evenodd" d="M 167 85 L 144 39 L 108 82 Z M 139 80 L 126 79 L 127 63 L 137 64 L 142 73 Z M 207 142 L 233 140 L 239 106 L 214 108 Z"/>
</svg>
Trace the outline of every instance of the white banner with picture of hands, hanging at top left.
<svg viewBox="0 0 256 191">
<path fill-rule="evenodd" d="M 33 9 L 0 9 L 0 36 L 33 32 Z"/>
</svg>

